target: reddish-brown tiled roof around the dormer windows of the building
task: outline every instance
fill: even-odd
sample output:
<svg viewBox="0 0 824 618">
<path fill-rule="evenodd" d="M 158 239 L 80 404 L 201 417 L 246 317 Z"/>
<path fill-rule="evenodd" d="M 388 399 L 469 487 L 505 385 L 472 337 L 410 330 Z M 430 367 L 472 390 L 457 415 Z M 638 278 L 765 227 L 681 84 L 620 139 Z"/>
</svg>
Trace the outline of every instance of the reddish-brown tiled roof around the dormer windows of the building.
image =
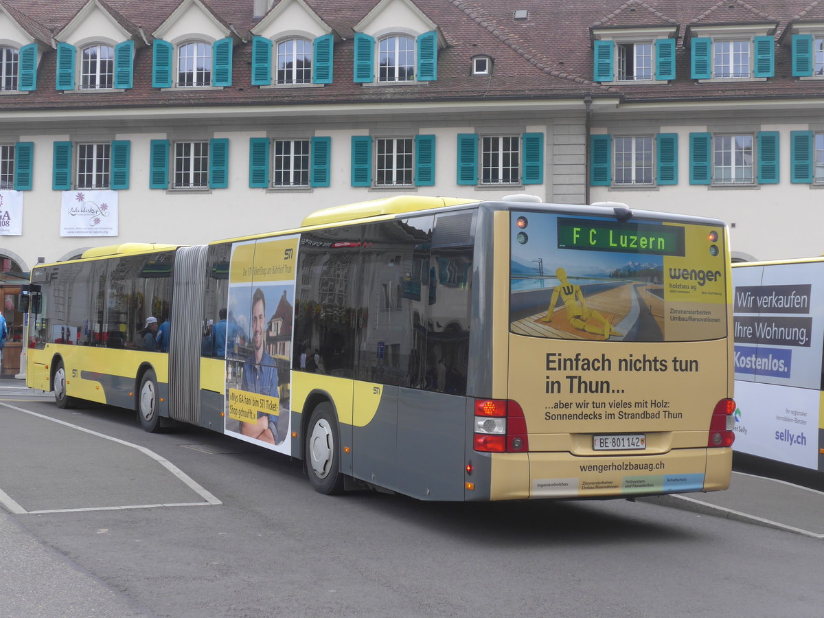
<svg viewBox="0 0 824 618">
<path fill-rule="evenodd" d="M 283 2 L 284 0 L 276 0 Z M 776 44 L 775 77 L 765 82 L 727 80 L 695 83 L 690 79 L 690 50 L 683 37 L 689 26 L 778 22 L 776 41 L 793 21 L 824 19 L 817 0 L 411 0 L 438 25 L 447 42 L 438 54 L 438 79 L 426 85 L 353 83 L 353 27 L 379 0 L 304 0 L 336 33 L 334 81 L 324 87 L 252 87 L 250 44 L 234 49 L 232 87 L 161 91 L 152 88 L 152 49 L 138 45 L 133 88 L 124 92 L 54 90 L 54 51 L 43 55 L 38 90 L 4 96 L 0 109 L 82 109 L 164 105 L 369 104 L 386 101 L 479 101 L 506 99 L 580 99 L 622 96 L 625 101 L 705 98 L 820 97 L 824 82 L 798 81 L 791 75 L 789 45 Z M 39 24 L 41 33 L 59 31 L 87 0 L 0 0 L 18 21 Z M 201 0 L 241 38 L 250 40 L 255 25 L 253 0 Z M 147 36 L 161 26 L 180 0 L 103 0 L 119 19 Z M 513 12 L 526 10 L 526 20 Z M 12 13 L 16 11 L 16 13 Z M 399 25 L 402 26 L 402 25 Z M 592 82 L 592 28 L 677 26 L 677 79 L 665 84 Z M 489 55 L 490 76 L 471 75 L 471 58 Z"/>
</svg>

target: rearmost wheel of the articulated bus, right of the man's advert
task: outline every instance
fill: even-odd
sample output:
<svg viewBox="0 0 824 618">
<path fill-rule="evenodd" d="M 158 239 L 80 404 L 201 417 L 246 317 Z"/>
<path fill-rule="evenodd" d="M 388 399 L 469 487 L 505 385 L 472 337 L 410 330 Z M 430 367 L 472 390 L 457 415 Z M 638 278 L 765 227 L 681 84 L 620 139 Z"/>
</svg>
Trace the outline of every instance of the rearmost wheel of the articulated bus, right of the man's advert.
<svg viewBox="0 0 824 618">
<path fill-rule="evenodd" d="M 325 401 L 311 413 L 306 444 L 309 482 L 321 494 L 339 494 L 344 488 L 338 442 L 335 412 L 332 405 Z"/>
</svg>

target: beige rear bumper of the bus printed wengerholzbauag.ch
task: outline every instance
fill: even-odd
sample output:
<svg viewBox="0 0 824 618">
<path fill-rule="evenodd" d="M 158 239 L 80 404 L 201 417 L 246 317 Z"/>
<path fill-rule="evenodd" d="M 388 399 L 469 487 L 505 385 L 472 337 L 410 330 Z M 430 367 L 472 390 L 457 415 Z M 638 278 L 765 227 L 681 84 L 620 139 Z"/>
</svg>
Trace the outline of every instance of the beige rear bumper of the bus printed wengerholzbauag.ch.
<svg viewBox="0 0 824 618">
<path fill-rule="evenodd" d="M 492 457 L 489 498 L 631 498 L 727 489 L 732 449 L 681 448 L 659 455 L 580 457 L 568 452 Z"/>
</svg>

